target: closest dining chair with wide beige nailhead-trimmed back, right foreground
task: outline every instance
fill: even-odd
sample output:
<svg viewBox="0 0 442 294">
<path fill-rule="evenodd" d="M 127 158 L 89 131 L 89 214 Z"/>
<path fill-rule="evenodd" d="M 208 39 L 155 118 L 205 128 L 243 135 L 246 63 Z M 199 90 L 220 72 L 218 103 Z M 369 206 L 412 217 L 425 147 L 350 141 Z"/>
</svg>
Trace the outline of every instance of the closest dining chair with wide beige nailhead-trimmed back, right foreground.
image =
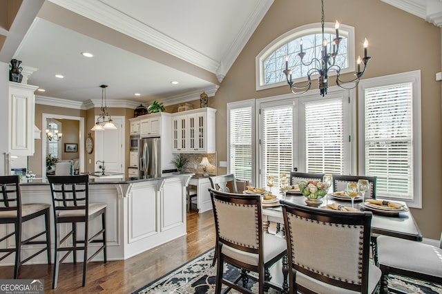
<svg viewBox="0 0 442 294">
<path fill-rule="evenodd" d="M 282 201 L 290 293 L 374 293 L 369 211 L 333 211 Z"/>
</svg>

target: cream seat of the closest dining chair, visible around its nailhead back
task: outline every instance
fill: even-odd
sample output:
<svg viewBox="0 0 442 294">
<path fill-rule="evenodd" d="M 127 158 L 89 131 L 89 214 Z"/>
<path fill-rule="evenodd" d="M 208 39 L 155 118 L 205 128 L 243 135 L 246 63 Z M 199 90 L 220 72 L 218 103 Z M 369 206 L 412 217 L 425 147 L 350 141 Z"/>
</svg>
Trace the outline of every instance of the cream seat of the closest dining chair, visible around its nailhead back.
<svg viewBox="0 0 442 294">
<path fill-rule="evenodd" d="M 369 264 L 368 269 L 368 293 L 373 293 L 381 279 L 381 270 L 378 269 L 374 264 Z M 360 293 L 352 290 L 347 290 L 345 288 L 339 288 L 332 286 L 325 282 L 320 282 L 319 280 L 304 275 L 299 271 L 296 272 L 296 284 L 299 284 L 305 288 L 310 289 L 316 293 L 327 293 L 327 294 L 346 294 L 346 293 Z"/>
</svg>

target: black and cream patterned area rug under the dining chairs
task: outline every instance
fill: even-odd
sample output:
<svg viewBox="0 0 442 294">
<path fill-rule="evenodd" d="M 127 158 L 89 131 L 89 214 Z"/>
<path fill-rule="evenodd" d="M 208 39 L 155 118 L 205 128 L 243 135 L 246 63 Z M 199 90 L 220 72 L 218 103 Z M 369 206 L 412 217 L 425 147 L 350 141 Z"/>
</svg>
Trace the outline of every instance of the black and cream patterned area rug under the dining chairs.
<svg viewBox="0 0 442 294">
<path fill-rule="evenodd" d="M 183 264 L 179 268 L 147 284 L 133 294 L 144 293 L 215 293 L 216 266 L 212 266 L 214 249 L 202 253 L 197 258 Z M 235 280 L 240 275 L 240 270 L 234 266 L 224 267 L 224 277 L 227 280 Z M 254 293 L 258 293 L 255 282 L 250 281 L 247 287 Z M 388 282 L 389 291 L 392 293 L 413 293 L 413 294 L 442 294 L 442 284 L 434 284 L 421 280 L 414 280 L 408 277 L 390 275 Z M 229 293 L 238 293 L 231 290 Z M 270 289 L 267 293 L 279 293 Z"/>
</svg>

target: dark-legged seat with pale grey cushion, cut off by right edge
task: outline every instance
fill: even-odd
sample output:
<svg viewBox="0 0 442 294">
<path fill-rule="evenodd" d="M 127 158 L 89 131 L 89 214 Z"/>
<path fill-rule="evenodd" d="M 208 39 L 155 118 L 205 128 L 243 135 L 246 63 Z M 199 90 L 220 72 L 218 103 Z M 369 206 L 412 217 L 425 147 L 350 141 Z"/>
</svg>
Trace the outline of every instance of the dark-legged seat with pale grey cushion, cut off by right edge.
<svg viewBox="0 0 442 294">
<path fill-rule="evenodd" d="M 381 293 L 388 293 L 388 275 L 394 273 L 435 283 L 442 281 L 442 233 L 439 248 L 387 235 L 380 235 L 378 266 L 382 271 Z"/>
</svg>

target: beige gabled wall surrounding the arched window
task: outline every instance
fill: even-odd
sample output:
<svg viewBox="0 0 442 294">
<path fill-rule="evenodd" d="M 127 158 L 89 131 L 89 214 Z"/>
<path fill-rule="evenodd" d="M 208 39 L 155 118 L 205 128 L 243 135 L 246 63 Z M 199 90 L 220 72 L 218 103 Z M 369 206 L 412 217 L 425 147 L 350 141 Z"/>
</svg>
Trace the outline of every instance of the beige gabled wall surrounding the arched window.
<svg viewBox="0 0 442 294">
<path fill-rule="evenodd" d="M 421 70 L 423 209 L 412 209 L 425 238 L 439 240 L 442 231 L 442 197 L 434 183 L 442 178 L 441 31 L 436 26 L 379 0 L 325 1 L 325 21 L 336 19 L 355 28 L 356 56 L 369 40 L 372 61 L 364 78 Z M 320 1 L 277 0 L 269 9 L 240 56 L 227 73 L 209 107 L 216 113 L 218 161 L 227 160 L 227 107 L 232 101 L 289 93 L 289 87 L 255 90 L 255 58 L 281 34 L 308 23 L 320 22 Z M 349 78 L 349 76 L 346 76 Z M 312 90 L 315 91 L 315 90 Z M 219 168 L 218 174 L 225 173 Z"/>
</svg>

